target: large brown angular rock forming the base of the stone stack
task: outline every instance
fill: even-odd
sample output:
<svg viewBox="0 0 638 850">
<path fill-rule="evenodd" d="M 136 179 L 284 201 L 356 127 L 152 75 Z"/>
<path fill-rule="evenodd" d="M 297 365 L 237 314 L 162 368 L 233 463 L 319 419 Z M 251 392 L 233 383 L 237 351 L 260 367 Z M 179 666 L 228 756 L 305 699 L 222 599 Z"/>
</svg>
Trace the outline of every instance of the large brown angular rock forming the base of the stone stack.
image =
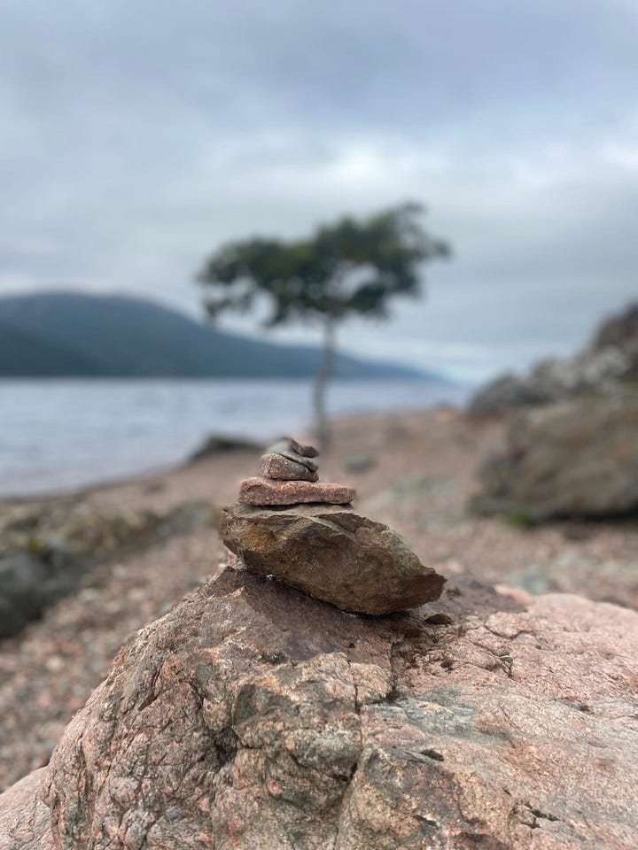
<svg viewBox="0 0 638 850">
<path fill-rule="evenodd" d="M 395 531 L 339 506 L 235 505 L 220 533 L 247 567 L 345 611 L 403 611 L 438 599 L 445 582 Z"/>
</svg>

